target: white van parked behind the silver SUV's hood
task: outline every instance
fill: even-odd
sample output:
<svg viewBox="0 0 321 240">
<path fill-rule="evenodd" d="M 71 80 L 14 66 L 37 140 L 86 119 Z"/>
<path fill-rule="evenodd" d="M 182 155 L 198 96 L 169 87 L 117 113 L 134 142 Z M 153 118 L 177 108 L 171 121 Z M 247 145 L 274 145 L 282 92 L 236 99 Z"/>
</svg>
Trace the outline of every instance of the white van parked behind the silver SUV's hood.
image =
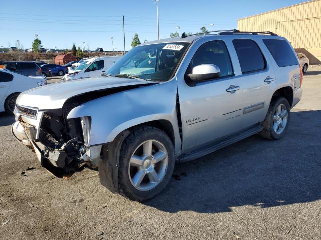
<svg viewBox="0 0 321 240">
<path fill-rule="evenodd" d="M 76 80 L 80 78 L 101 76 L 109 69 L 121 56 L 97 56 L 88 58 L 82 62 L 72 73 L 64 75 L 62 81 Z"/>
</svg>

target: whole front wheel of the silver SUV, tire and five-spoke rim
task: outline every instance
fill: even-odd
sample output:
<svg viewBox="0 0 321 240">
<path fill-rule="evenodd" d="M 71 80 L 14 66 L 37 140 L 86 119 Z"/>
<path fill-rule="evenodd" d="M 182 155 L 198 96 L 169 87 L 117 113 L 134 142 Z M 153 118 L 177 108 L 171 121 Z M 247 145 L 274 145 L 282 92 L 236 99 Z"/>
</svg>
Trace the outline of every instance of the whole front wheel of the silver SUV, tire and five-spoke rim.
<svg viewBox="0 0 321 240">
<path fill-rule="evenodd" d="M 119 157 L 119 192 L 135 201 L 160 193 L 174 170 L 174 147 L 158 128 L 134 129 L 123 142 Z"/>
</svg>

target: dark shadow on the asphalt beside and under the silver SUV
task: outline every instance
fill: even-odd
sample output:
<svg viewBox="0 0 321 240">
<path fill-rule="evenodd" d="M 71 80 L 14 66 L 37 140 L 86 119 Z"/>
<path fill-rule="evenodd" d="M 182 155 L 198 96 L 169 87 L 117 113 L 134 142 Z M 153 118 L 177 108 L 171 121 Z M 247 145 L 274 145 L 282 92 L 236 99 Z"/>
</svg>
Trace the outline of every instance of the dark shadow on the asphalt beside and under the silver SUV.
<svg viewBox="0 0 321 240">
<path fill-rule="evenodd" d="M 291 113 L 278 141 L 255 135 L 176 165 L 163 193 L 144 204 L 166 212 L 228 212 L 321 199 L 321 111 Z"/>
</svg>

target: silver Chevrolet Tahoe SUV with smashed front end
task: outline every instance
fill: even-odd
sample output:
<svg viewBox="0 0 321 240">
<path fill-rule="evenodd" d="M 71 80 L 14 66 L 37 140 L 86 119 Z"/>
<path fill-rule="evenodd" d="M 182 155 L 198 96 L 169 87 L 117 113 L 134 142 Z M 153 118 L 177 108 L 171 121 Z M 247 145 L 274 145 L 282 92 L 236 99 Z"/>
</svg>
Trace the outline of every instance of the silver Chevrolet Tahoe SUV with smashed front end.
<svg viewBox="0 0 321 240">
<path fill-rule="evenodd" d="M 110 191 L 144 201 L 165 188 L 175 162 L 256 133 L 282 138 L 301 85 L 283 37 L 183 34 L 134 47 L 104 76 L 21 93 L 12 132 L 55 175 L 98 167 Z"/>
</svg>

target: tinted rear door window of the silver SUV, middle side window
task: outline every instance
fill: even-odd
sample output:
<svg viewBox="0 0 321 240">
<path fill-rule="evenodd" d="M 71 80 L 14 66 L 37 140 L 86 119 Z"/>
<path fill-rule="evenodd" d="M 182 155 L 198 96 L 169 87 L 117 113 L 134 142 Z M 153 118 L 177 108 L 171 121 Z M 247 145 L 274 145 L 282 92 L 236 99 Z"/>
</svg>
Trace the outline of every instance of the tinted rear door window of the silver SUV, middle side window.
<svg viewBox="0 0 321 240">
<path fill-rule="evenodd" d="M 258 45 L 249 39 L 233 40 L 242 73 L 259 71 L 265 68 L 265 59 Z"/>
</svg>

